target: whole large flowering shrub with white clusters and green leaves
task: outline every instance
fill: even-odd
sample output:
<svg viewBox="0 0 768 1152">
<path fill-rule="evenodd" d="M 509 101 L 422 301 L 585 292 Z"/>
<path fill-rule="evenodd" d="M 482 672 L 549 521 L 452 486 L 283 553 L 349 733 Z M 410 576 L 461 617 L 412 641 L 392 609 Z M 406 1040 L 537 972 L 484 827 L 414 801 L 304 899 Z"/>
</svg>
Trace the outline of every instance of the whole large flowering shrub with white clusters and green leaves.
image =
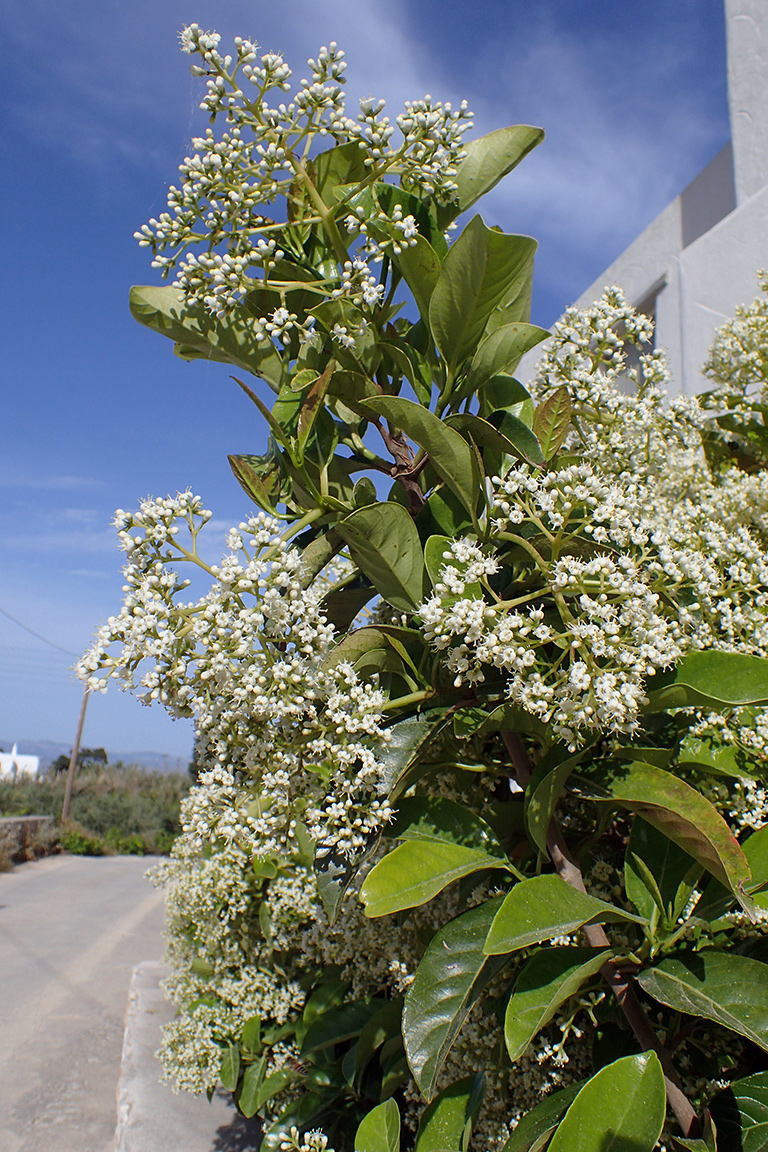
<svg viewBox="0 0 768 1152">
<path fill-rule="evenodd" d="M 175 281 L 131 308 L 260 381 L 266 452 L 230 457 L 258 510 L 219 564 L 197 497 L 119 511 L 126 601 L 81 665 L 196 723 L 168 1077 L 266 1149 L 756 1152 L 765 318 L 667 401 L 614 289 L 523 387 L 534 241 L 448 237 L 541 131 L 352 119 L 335 45 L 291 93 L 219 44 L 182 33 L 226 130 L 138 234 Z"/>
</svg>

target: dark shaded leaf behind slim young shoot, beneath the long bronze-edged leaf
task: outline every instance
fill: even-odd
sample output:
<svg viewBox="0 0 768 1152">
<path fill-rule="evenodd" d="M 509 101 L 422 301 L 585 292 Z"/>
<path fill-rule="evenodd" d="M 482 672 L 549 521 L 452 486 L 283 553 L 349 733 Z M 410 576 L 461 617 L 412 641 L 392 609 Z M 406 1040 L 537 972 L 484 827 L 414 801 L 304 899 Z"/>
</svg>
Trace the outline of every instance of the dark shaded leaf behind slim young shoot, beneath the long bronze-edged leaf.
<svg viewBox="0 0 768 1152">
<path fill-rule="evenodd" d="M 661 916 L 671 929 L 700 876 L 701 865 L 679 844 L 634 818 L 624 857 L 624 887 L 641 916 L 647 920 Z"/>
</svg>

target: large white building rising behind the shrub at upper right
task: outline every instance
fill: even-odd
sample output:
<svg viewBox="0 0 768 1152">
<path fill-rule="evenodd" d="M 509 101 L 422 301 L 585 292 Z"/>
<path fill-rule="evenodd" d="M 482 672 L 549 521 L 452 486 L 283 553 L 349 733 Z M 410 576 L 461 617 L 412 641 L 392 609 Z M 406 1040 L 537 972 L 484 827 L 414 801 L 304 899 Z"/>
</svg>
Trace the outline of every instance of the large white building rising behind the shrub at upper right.
<svg viewBox="0 0 768 1152">
<path fill-rule="evenodd" d="M 684 393 L 712 387 L 701 365 L 715 328 L 768 271 L 768 0 L 725 0 L 725 43 L 730 143 L 576 301 L 622 287 L 655 320 Z"/>
</svg>

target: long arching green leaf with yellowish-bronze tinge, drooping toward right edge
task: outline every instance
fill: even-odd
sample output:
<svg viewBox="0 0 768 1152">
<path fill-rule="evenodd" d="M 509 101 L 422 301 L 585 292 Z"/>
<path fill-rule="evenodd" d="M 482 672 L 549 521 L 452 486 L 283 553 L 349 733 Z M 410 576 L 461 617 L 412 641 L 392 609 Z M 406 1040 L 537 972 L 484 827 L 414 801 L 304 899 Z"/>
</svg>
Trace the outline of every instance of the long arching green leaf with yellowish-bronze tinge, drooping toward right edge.
<svg viewBox="0 0 768 1152">
<path fill-rule="evenodd" d="M 641 816 L 730 888 L 746 908 L 743 887 L 750 865 L 720 812 L 690 785 L 652 764 L 634 760 L 611 770 L 606 790 L 583 791 Z"/>
</svg>

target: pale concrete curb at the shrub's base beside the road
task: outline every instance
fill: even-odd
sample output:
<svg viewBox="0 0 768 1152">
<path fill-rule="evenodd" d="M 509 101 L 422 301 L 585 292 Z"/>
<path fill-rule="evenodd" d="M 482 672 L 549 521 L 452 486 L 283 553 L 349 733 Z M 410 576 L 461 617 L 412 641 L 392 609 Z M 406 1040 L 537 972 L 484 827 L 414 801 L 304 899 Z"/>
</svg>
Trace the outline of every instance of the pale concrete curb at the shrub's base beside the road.
<svg viewBox="0 0 768 1152">
<path fill-rule="evenodd" d="M 132 972 L 117 1087 L 115 1152 L 246 1152 L 258 1147 L 253 1123 L 226 1094 L 174 1094 L 160 1083 L 155 1052 L 173 1006 L 159 988 L 165 964 L 144 961 Z"/>
</svg>

